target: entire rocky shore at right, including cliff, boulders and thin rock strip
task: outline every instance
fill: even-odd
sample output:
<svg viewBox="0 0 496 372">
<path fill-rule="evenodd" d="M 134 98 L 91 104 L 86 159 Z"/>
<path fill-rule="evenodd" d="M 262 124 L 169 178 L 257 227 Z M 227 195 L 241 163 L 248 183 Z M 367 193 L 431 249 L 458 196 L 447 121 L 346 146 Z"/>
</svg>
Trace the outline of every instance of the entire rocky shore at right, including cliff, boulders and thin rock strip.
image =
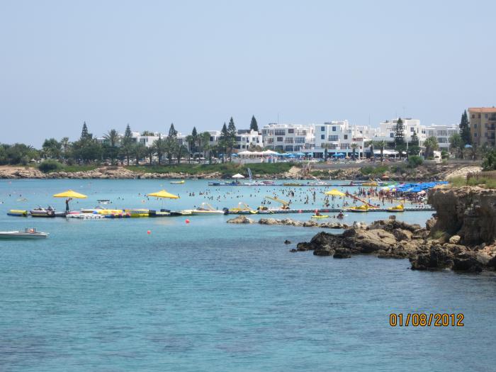
<svg viewBox="0 0 496 372">
<path fill-rule="evenodd" d="M 261 218 L 258 223 L 346 229 L 342 234 L 319 232 L 310 242 L 298 243 L 291 252 L 312 251 L 315 256 L 336 259 L 354 254 L 409 259 L 413 270 L 495 271 L 496 190 L 434 188 L 429 191 L 429 203 L 437 213 L 427 220 L 425 227 L 395 220 L 395 216 L 368 226 L 355 223 L 352 227 L 339 222 L 303 222 L 290 218 Z M 227 222 L 254 223 L 245 216 Z"/>
</svg>

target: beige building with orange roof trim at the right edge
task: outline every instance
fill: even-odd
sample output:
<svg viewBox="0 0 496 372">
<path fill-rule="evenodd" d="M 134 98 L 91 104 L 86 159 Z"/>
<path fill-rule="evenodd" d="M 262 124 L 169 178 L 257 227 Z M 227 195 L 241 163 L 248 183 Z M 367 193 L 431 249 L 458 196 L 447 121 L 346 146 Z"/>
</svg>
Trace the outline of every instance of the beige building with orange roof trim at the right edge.
<svg viewBox="0 0 496 372">
<path fill-rule="evenodd" d="M 470 107 L 468 108 L 468 122 L 473 145 L 495 146 L 496 143 L 496 108 Z"/>
</svg>

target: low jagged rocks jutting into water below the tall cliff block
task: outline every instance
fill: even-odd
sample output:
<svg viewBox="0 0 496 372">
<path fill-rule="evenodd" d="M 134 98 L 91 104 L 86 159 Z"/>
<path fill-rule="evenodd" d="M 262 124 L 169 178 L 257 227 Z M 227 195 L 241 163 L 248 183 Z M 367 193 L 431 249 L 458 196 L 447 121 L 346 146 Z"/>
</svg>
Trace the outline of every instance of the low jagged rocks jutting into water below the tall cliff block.
<svg viewBox="0 0 496 372">
<path fill-rule="evenodd" d="M 433 239 L 419 225 L 381 220 L 366 227 L 354 225 L 342 234 L 319 232 L 310 242 L 298 243 L 291 252 L 313 251 L 315 256 L 348 258 L 374 254 L 379 258 L 409 259 L 414 270 L 453 269 L 479 272 L 496 267 L 494 246 L 466 247 L 457 239 Z"/>
</svg>

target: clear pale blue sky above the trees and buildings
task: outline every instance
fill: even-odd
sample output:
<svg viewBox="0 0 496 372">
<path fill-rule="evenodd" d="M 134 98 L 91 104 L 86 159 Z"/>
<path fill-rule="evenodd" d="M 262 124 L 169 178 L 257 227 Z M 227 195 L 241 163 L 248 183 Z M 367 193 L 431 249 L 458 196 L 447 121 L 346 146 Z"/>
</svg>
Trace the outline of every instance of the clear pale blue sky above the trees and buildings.
<svg viewBox="0 0 496 372">
<path fill-rule="evenodd" d="M 0 1 L 0 142 L 232 116 L 458 123 L 496 106 L 496 1 Z"/>
</svg>

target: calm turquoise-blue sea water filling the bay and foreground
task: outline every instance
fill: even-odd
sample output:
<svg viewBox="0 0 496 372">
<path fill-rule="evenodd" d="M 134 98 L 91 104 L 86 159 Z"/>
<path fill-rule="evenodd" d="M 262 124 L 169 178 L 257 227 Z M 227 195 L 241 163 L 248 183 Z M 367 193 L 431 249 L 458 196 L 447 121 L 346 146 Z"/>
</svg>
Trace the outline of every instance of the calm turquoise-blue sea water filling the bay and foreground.
<svg viewBox="0 0 496 372">
<path fill-rule="evenodd" d="M 319 230 L 229 225 L 225 216 L 193 216 L 188 225 L 6 216 L 38 204 L 62 209 L 51 195 L 67 188 L 89 196 L 74 207 L 108 198 L 142 208 L 161 202 L 138 193 L 166 188 L 181 199 L 164 206 L 181 209 L 204 201 L 198 192 L 208 186 L 1 180 L 0 230 L 50 232 L 44 241 L 0 242 L 1 371 L 494 371 L 495 276 L 292 254 Z M 257 206 L 279 188 L 211 190 L 230 192 L 210 201 L 222 208 Z M 398 218 L 423 223 L 429 214 Z M 465 327 L 392 328 L 390 312 L 463 312 Z"/>
</svg>

